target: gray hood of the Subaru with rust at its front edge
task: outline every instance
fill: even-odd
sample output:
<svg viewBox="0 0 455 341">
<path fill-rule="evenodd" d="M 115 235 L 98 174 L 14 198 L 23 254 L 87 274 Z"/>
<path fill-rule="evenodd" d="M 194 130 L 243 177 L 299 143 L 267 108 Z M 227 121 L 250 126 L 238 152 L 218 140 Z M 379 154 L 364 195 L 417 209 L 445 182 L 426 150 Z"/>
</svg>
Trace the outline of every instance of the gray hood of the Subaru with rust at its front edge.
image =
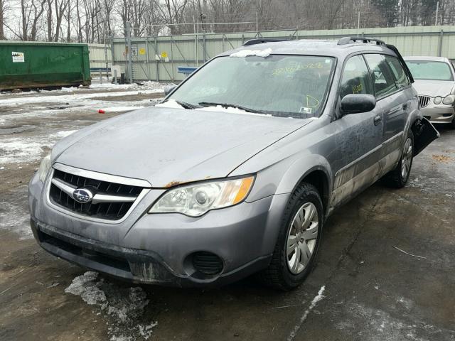
<svg viewBox="0 0 455 341">
<path fill-rule="evenodd" d="M 55 146 L 53 162 L 166 188 L 223 178 L 310 121 L 150 107 L 68 136 Z"/>
</svg>

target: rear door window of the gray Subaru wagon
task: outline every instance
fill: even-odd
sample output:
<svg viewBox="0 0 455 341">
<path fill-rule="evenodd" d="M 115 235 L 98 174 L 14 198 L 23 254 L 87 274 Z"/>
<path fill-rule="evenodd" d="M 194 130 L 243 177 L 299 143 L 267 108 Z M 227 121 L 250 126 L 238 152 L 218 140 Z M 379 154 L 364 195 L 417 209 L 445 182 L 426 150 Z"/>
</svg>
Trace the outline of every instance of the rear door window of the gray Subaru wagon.
<svg viewBox="0 0 455 341">
<path fill-rule="evenodd" d="M 365 55 L 365 59 L 373 75 L 376 97 L 385 97 L 387 94 L 397 91 L 397 85 L 393 80 L 392 72 L 385 63 L 385 58 L 382 55 L 368 54 Z"/>
</svg>

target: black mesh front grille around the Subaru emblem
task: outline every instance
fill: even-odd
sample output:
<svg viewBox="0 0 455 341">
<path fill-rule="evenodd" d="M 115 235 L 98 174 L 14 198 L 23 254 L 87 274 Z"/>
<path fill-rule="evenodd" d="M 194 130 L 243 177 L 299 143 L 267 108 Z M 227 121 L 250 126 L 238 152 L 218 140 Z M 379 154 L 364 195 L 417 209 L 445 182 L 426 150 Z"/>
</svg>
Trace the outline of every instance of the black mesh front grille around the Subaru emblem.
<svg viewBox="0 0 455 341">
<path fill-rule="evenodd" d="M 144 189 L 133 185 L 85 178 L 58 169 L 54 170 L 53 179 L 60 180 L 65 185 L 70 185 L 72 188 L 85 188 L 94 194 L 132 197 L 133 201 L 128 202 L 80 203 L 74 200 L 70 193 L 65 193 L 65 191 L 55 185 L 55 183 L 50 183 L 49 199 L 53 204 L 79 215 L 103 220 L 122 219 L 134 204 L 134 198 L 137 198 Z"/>
</svg>

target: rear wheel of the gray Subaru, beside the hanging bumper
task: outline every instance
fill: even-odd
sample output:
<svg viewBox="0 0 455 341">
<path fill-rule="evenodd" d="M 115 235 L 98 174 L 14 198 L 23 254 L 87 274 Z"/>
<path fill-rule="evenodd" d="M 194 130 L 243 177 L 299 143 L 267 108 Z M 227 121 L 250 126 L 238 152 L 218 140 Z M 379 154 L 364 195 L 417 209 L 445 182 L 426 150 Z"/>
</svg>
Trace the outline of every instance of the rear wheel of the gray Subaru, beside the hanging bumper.
<svg viewBox="0 0 455 341">
<path fill-rule="evenodd" d="M 414 134 L 410 130 L 405 139 L 400 161 L 397 167 L 385 175 L 385 183 L 393 188 L 405 187 L 407 180 L 410 178 L 412 159 L 414 152 Z"/>
</svg>

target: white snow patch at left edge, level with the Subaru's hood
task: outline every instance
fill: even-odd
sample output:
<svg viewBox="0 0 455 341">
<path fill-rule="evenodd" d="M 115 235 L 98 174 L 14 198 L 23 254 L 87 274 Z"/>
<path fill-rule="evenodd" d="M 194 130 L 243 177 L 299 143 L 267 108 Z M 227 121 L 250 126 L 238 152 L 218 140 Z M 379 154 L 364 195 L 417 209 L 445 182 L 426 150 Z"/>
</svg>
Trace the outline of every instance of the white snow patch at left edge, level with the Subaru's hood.
<svg viewBox="0 0 455 341">
<path fill-rule="evenodd" d="M 58 131 L 33 137 L 9 137 L 0 140 L 0 164 L 30 163 L 39 160 L 43 148 L 52 147 L 55 142 L 73 134 L 77 130 Z M 38 137 L 38 138 L 37 138 Z"/>
</svg>

